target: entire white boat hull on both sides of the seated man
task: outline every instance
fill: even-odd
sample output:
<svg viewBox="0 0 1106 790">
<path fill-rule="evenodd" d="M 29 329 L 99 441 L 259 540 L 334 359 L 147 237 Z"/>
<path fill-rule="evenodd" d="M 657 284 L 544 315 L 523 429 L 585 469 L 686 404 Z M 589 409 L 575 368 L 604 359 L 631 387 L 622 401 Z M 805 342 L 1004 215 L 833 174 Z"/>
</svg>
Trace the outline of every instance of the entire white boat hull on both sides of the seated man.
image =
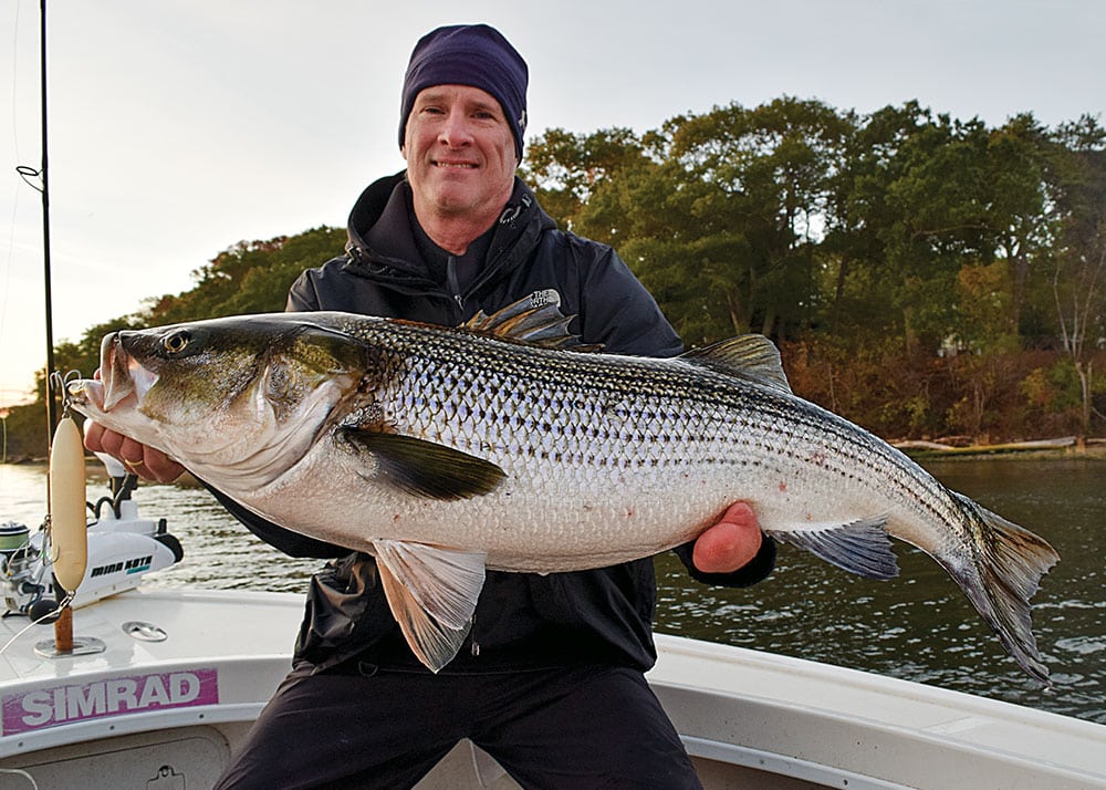
<svg viewBox="0 0 1106 790">
<path fill-rule="evenodd" d="M 0 789 L 32 787 L 27 775 L 41 790 L 210 787 L 288 672 L 302 605 L 282 593 L 129 591 L 74 612 L 76 637 L 103 653 L 60 658 L 35 652 L 52 628 L 33 626 L 0 656 Z M 128 634 L 126 623 L 146 625 Z M 7 617 L 0 631 L 25 624 Z M 1106 788 L 1103 725 L 737 647 L 657 643 L 650 683 L 707 788 Z M 468 744 L 419 784 L 480 787 L 518 786 Z"/>
</svg>

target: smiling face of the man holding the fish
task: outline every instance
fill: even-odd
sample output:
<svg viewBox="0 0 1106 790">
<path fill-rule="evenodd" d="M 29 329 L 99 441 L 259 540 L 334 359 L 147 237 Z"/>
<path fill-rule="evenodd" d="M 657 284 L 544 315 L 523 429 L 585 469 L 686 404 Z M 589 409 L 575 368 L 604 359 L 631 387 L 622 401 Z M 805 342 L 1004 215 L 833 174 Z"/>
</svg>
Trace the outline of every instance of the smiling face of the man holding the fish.
<svg viewBox="0 0 1106 790">
<path fill-rule="evenodd" d="M 469 85 L 419 92 L 403 155 L 420 219 L 420 207 L 476 222 L 497 216 L 511 197 L 519 166 L 503 108 L 490 93 Z"/>
</svg>

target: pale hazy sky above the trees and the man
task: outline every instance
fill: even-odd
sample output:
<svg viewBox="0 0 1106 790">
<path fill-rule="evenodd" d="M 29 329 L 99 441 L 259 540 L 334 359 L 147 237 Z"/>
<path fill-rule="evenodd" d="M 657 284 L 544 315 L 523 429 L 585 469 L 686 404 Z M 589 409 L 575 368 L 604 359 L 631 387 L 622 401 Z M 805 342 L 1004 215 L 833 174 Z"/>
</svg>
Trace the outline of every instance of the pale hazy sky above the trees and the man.
<svg viewBox="0 0 1106 790">
<path fill-rule="evenodd" d="M 344 227 L 404 166 L 403 73 L 441 24 L 530 65 L 528 137 L 781 96 L 991 126 L 1106 113 L 1102 0 L 50 0 L 55 342 L 190 289 L 239 241 Z M 45 364 L 39 0 L 0 3 L 0 409 Z M 7 112 L 6 112 L 7 111 Z M 322 262 L 322 261 L 320 261 Z M 90 375 L 92 371 L 84 371 Z"/>
</svg>

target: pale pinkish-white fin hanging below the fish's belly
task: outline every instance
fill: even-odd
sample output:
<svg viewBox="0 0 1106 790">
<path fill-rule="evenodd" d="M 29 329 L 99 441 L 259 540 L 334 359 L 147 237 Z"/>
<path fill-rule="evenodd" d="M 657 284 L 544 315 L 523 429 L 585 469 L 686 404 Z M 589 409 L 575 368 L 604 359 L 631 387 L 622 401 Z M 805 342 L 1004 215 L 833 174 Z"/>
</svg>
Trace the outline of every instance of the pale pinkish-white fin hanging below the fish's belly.
<svg viewBox="0 0 1106 790">
<path fill-rule="evenodd" d="M 487 554 L 399 540 L 373 545 L 392 616 L 418 659 L 438 672 L 472 625 Z"/>
</svg>

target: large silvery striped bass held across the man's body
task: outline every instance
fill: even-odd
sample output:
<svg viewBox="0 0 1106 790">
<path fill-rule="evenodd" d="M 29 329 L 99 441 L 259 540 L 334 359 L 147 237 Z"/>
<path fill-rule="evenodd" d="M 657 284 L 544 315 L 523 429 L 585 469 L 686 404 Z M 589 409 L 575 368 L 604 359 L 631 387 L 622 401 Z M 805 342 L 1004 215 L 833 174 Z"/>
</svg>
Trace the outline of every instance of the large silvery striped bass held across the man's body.
<svg viewBox="0 0 1106 790">
<path fill-rule="evenodd" d="M 115 332 L 102 381 L 70 396 L 260 516 L 374 554 L 435 671 L 486 568 L 648 557 L 747 500 L 765 533 L 869 579 L 898 572 L 888 536 L 918 547 L 1047 682 L 1029 607 L 1058 559 L 1045 541 L 796 397 L 762 336 L 675 358 L 573 351 L 568 320 L 534 301 L 460 329 L 317 312 Z"/>
</svg>

